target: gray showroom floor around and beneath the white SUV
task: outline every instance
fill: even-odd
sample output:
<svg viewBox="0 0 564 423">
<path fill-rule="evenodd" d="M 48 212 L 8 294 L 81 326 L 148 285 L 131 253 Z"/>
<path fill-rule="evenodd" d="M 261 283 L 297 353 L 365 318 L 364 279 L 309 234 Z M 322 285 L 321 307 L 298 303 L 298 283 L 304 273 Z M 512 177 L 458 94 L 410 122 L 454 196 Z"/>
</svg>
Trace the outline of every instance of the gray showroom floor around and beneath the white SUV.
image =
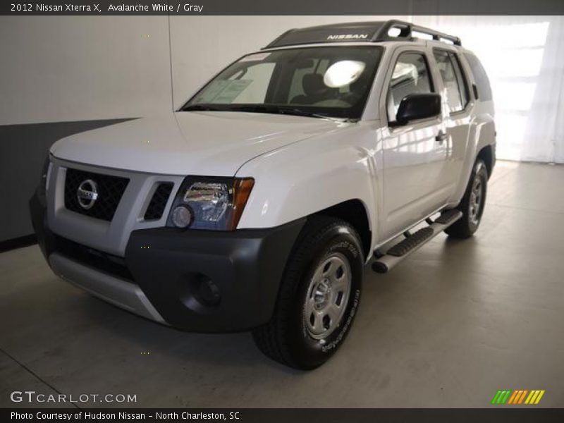
<svg viewBox="0 0 564 423">
<path fill-rule="evenodd" d="M 498 162 L 474 238 L 435 238 L 380 276 L 313 372 L 248 333 L 159 326 L 56 278 L 37 246 L 0 255 L 0 406 L 11 391 L 130 393 L 140 407 L 484 407 L 545 389 L 564 407 L 564 166 Z M 85 404 L 86 405 L 98 405 Z"/>
</svg>

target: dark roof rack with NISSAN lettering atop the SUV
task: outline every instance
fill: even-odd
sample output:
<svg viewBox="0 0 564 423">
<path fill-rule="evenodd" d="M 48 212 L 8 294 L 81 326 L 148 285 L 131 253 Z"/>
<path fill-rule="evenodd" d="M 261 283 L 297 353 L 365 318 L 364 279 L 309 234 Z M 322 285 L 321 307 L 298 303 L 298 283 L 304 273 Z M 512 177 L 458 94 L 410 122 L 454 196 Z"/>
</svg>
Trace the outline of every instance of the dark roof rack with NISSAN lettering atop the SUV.
<svg viewBox="0 0 564 423">
<path fill-rule="evenodd" d="M 393 28 L 400 30 L 398 35 L 389 34 Z M 437 41 L 448 40 L 456 46 L 462 45 L 460 38 L 453 35 L 444 34 L 443 32 L 431 30 L 403 20 L 386 20 L 379 22 L 337 23 L 289 30 L 274 39 L 264 49 L 324 42 L 415 41 L 413 32 L 430 35 Z"/>
</svg>

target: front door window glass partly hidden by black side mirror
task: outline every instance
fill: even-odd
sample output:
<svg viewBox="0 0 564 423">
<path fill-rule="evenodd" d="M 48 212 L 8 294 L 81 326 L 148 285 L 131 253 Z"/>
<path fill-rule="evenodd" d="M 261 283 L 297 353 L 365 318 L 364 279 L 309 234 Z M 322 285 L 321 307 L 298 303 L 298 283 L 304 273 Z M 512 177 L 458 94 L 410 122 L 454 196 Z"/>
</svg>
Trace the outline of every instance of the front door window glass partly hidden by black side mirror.
<svg viewBox="0 0 564 423">
<path fill-rule="evenodd" d="M 400 54 L 393 68 L 388 88 L 388 121 L 396 121 L 396 114 L 403 97 L 407 94 L 433 92 L 429 66 L 423 53 Z"/>
</svg>

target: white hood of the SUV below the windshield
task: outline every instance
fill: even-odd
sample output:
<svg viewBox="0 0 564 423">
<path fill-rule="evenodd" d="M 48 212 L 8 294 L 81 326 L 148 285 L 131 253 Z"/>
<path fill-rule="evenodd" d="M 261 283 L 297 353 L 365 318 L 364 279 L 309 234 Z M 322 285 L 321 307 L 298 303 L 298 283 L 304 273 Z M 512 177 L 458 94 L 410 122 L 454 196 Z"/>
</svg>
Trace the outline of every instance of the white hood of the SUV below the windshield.
<svg viewBox="0 0 564 423">
<path fill-rule="evenodd" d="M 65 137 L 51 147 L 51 154 L 131 171 L 234 176 L 250 159 L 348 125 L 278 114 L 176 112 Z"/>
</svg>

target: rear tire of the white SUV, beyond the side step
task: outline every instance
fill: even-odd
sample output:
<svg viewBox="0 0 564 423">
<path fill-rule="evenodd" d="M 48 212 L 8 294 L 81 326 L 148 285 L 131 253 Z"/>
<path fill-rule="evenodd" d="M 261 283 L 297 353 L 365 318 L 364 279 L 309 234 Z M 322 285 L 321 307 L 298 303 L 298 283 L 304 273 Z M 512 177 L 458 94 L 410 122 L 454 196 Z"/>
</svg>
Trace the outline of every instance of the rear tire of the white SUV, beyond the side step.
<svg viewBox="0 0 564 423">
<path fill-rule="evenodd" d="M 474 198 L 477 196 L 472 196 L 472 189 L 475 188 L 475 184 L 479 184 L 482 192 L 479 196 L 478 207 L 476 207 L 476 203 L 474 202 Z M 462 212 L 462 217 L 445 230 L 450 237 L 465 239 L 474 235 L 474 232 L 477 231 L 480 221 L 482 221 L 482 214 L 484 213 L 487 186 L 488 169 L 482 159 L 477 159 L 474 164 L 474 168 L 472 168 L 472 173 L 470 174 L 470 180 L 468 180 L 464 197 L 462 197 L 462 201 L 456 207 L 460 210 L 460 212 Z"/>
</svg>

